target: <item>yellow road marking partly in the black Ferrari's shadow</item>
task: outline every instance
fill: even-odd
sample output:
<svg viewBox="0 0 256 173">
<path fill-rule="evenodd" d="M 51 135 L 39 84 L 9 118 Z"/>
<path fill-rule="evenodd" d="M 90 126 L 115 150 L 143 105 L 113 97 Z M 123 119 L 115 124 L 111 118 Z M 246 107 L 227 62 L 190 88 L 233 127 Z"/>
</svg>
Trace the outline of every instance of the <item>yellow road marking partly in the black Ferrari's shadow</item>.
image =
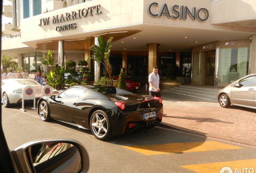
<svg viewBox="0 0 256 173">
<path fill-rule="evenodd" d="M 134 145 L 123 146 L 124 148 L 142 153 L 144 155 L 160 155 L 170 153 L 189 153 L 198 151 L 214 151 L 225 149 L 242 149 L 233 145 L 218 143 L 215 141 L 190 142 L 190 143 L 168 143 L 159 145 Z"/>
</svg>

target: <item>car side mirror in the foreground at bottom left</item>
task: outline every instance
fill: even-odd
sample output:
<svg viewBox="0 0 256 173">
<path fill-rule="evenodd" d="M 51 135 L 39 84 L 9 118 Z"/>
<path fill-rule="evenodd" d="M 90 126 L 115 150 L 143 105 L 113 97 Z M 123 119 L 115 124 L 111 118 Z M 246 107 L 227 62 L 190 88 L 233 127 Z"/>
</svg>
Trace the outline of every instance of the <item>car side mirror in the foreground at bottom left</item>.
<svg viewBox="0 0 256 173">
<path fill-rule="evenodd" d="M 42 139 L 11 151 L 17 172 L 87 173 L 89 155 L 85 147 L 72 139 Z"/>
</svg>

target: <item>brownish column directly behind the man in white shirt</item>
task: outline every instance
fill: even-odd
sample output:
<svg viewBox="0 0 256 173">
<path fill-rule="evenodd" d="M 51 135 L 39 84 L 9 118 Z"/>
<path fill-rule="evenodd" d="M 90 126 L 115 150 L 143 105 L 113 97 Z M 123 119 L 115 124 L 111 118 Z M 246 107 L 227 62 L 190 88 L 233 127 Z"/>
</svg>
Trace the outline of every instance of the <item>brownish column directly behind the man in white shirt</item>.
<svg viewBox="0 0 256 173">
<path fill-rule="evenodd" d="M 148 43 L 149 60 L 148 60 L 148 75 L 152 72 L 153 66 L 158 66 L 158 46 L 159 43 Z"/>
</svg>

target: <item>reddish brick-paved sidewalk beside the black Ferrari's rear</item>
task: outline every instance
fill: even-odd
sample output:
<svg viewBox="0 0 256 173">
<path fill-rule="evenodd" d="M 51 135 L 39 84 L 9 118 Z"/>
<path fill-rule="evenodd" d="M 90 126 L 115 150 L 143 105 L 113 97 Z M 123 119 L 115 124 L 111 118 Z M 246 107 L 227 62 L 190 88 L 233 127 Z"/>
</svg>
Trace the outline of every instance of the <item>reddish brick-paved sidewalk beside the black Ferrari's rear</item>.
<svg viewBox="0 0 256 173">
<path fill-rule="evenodd" d="M 136 91 L 149 95 L 148 91 Z M 256 147 L 256 110 L 161 91 L 164 126 L 179 131 Z"/>
</svg>

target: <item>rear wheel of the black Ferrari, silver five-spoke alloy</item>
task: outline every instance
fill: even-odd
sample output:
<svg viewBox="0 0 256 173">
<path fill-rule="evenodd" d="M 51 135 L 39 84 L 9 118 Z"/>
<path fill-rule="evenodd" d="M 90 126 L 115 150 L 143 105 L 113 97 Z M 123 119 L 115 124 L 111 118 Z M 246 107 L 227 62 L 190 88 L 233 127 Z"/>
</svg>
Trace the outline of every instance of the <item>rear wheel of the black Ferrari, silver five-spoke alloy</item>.
<svg viewBox="0 0 256 173">
<path fill-rule="evenodd" d="M 91 116 L 91 132 L 99 140 L 106 140 L 112 136 L 112 129 L 107 113 L 98 110 Z"/>
</svg>

